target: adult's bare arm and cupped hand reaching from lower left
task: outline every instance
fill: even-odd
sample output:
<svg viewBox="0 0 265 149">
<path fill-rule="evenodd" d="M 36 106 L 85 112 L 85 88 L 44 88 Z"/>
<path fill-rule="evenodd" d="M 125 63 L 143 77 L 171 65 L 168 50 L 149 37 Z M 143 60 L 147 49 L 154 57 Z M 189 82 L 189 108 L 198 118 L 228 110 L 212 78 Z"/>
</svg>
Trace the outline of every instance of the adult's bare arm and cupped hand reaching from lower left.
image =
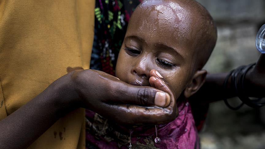
<svg viewBox="0 0 265 149">
<path fill-rule="evenodd" d="M 121 124 L 157 124 L 171 121 L 169 116 L 175 119 L 178 113 L 167 110 L 170 106 L 165 105 L 171 99 L 166 94 L 158 97 L 157 92 L 163 91 L 132 86 L 102 71 L 73 71 L 0 121 L 0 148 L 28 147 L 56 120 L 79 107 Z M 144 112 L 148 107 L 135 105 L 167 107 L 149 107 Z"/>
</svg>

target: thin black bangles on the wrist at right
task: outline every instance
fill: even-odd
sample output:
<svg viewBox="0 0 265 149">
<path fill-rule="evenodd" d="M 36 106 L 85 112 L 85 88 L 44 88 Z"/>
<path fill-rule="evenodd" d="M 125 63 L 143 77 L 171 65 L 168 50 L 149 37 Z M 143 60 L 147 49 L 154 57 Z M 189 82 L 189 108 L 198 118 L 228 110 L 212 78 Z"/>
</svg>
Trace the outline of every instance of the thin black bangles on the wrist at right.
<svg viewBox="0 0 265 149">
<path fill-rule="evenodd" d="M 229 74 L 226 76 L 225 81 L 223 83 L 224 90 L 227 90 L 227 82 L 231 76 L 231 88 L 235 90 L 236 94 L 238 95 L 239 99 L 242 101 L 242 103 L 236 107 L 232 107 L 228 101 L 227 98 L 224 99 L 225 104 L 232 110 L 238 110 L 240 109 L 244 104 L 252 107 L 252 108 L 258 108 L 263 105 L 265 105 L 265 102 L 260 102 L 262 98 L 252 100 L 250 99 L 244 92 L 244 81 L 245 76 L 249 69 L 251 69 L 253 66 L 255 66 L 256 63 L 249 64 L 247 66 L 240 66 L 236 69 L 233 69 L 229 72 Z"/>
</svg>

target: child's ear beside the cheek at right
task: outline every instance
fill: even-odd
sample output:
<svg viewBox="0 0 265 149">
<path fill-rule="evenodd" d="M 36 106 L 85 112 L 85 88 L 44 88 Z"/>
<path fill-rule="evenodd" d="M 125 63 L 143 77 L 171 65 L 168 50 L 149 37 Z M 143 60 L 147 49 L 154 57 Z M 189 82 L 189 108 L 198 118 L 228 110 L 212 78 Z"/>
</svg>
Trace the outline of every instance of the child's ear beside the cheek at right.
<svg viewBox="0 0 265 149">
<path fill-rule="evenodd" d="M 206 79 L 206 74 L 207 74 L 206 70 L 198 70 L 195 72 L 190 83 L 184 90 L 184 96 L 186 98 L 196 93 L 202 87 Z"/>
</svg>

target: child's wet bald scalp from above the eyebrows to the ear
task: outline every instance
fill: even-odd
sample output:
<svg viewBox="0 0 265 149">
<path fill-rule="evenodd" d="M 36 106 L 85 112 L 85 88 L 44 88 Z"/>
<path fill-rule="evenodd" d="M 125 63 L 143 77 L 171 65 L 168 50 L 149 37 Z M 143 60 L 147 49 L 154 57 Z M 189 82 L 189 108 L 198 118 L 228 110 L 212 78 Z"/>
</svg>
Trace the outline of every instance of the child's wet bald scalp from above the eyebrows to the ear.
<svg viewBox="0 0 265 149">
<path fill-rule="evenodd" d="M 194 0 L 145 0 L 136 8 L 132 17 L 140 20 L 141 16 L 149 19 L 138 23 L 145 24 L 149 30 L 153 30 L 152 33 L 163 30 L 167 37 L 182 38 L 176 40 L 178 44 L 189 43 L 194 52 L 193 61 L 196 62 L 197 69 L 202 69 L 217 39 L 213 19 L 202 5 Z M 139 29 L 139 32 L 143 31 Z"/>
</svg>

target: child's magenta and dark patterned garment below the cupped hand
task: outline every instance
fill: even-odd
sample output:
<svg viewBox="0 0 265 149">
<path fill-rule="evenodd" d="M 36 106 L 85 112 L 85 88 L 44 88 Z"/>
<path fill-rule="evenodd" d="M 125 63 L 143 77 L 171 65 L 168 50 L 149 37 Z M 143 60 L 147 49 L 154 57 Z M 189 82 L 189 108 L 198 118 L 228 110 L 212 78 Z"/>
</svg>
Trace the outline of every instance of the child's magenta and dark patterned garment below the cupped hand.
<svg viewBox="0 0 265 149">
<path fill-rule="evenodd" d="M 190 104 L 178 104 L 179 116 L 168 124 L 159 125 L 160 143 L 155 143 L 155 126 L 141 126 L 132 129 L 132 148 L 141 149 L 198 149 L 199 139 Z M 129 130 L 91 111 L 86 112 L 86 147 L 101 149 L 127 149 Z"/>
</svg>

